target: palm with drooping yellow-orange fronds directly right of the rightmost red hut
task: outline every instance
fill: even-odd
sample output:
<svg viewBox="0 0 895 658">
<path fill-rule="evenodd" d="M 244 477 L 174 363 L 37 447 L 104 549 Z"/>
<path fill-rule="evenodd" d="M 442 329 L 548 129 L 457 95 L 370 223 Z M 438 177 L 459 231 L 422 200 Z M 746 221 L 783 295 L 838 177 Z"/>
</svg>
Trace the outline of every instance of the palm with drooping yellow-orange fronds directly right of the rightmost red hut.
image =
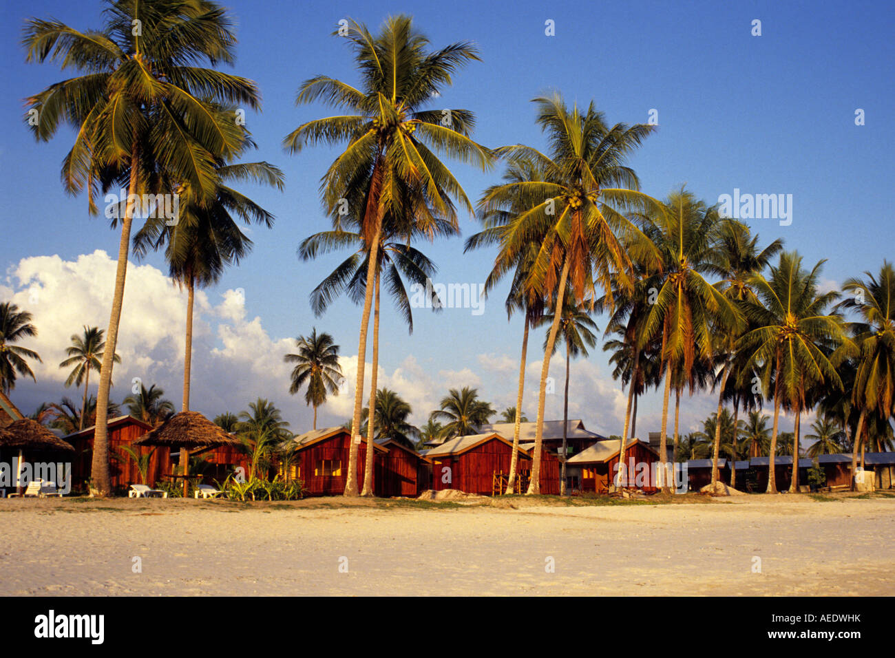
<svg viewBox="0 0 895 658">
<path fill-rule="evenodd" d="M 719 330 L 737 329 L 742 324 L 736 306 L 704 278 L 718 274 L 712 249 L 720 232 L 720 218 L 714 208 L 697 201 L 692 192 L 672 192 L 665 211 L 647 228 L 662 254 L 661 286 L 644 326 L 646 340 L 661 336 L 661 363 L 665 375 L 662 397 L 660 461 L 666 474 L 666 440 L 671 380 L 680 369 L 684 380 L 692 381 L 700 360 L 712 362 L 712 337 Z M 724 367 L 726 379 L 729 369 Z M 726 381 L 722 380 L 721 389 Z M 720 410 L 719 410 L 720 413 Z M 663 478 L 662 491 L 669 491 Z"/>
</svg>

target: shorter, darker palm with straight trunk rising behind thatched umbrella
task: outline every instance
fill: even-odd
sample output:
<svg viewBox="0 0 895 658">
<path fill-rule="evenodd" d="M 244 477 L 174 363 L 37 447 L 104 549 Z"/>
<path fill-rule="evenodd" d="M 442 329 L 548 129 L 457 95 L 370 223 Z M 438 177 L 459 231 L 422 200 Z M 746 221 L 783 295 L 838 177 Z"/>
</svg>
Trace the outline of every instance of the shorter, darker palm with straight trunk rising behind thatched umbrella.
<svg viewBox="0 0 895 658">
<path fill-rule="evenodd" d="M 251 251 L 251 240 L 237 223 L 252 222 L 273 226 L 274 216 L 241 192 L 227 186 L 229 181 L 250 181 L 269 184 L 283 190 L 283 172 L 267 162 L 248 162 L 215 167 L 217 180 L 214 194 L 208 198 L 201 191 L 183 194 L 180 217 L 174 226 L 165 218 L 149 218 L 134 235 L 134 253 L 143 256 L 147 250 L 165 247 L 168 274 L 177 286 L 187 290 L 186 334 L 183 353 L 183 411 L 190 408 L 190 376 L 192 372 L 192 309 L 196 286 L 217 283 L 228 265 L 238 265 Z M 235 216 L 235 218 L 234 218 Z"/>
</svg>

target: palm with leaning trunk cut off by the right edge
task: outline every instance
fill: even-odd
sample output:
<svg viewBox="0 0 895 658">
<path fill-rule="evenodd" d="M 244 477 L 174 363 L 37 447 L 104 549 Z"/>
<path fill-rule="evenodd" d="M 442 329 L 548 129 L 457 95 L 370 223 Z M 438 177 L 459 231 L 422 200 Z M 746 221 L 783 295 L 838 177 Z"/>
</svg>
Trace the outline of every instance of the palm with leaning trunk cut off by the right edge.
<svg viewBox="0 0 895 658">
<path fill-rule="evenodd" d="M 858 446 L 865 441 L 867 417 L 876 415 L 889 423 L 895 412 L 895 268 L 883 261 L 878 276 L 865 271 L 865 279 L 849 278 L 842 290 L 851 295 L 839 304 L 857 311 L 853 326 L 859 349 L 852 402 L 860 411 L 851 455 L 852 473 L 857 469 Z"/>
</svg>

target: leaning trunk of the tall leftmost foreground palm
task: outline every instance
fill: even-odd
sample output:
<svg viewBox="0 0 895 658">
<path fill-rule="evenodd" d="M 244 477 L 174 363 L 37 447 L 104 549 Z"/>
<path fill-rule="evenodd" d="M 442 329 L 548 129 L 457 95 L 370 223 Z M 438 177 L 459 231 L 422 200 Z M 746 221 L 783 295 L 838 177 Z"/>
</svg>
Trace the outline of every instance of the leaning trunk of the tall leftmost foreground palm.
<svg viewBox="0 0 895 658">
<path fill-rule="evenodd" d="M 137 167 L 140 158 L 137 143 L 131 147 L 131 179 L 128 184 L 128 198 L 137 193 Z M 119 205 L 119 208 L 121 206 Z M 100 498 L 112 492 L 109 480 L 108 411 L 109 389 L 112 385 L 112 363 L 118 344 L 118 324 L 121 322 L 121 308 L 124 304 L 124 279 L 127 277 L 127 255 L 131 245 L 131 225 L 133 204 L 124 203 L 124 219 L 121 223 L 121 240 L 118 243 L 118 262 L 115 267 L 115 292 L 112 295 L 112 311 L 106 331 L 106 348 L 103 363 L 99 369 L 99 389 L 97 391 L 97 420 L 93 432 L 93 459 L 90 464 L 90 495 Z"/>
</svg>

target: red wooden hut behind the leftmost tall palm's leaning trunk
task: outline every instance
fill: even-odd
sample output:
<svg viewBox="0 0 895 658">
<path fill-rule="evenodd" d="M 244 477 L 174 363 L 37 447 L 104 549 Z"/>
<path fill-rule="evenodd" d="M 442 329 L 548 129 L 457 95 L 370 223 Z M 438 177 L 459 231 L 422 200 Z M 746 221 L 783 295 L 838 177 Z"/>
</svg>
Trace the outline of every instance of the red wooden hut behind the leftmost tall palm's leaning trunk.
<svg viewBox="0 0 895 658">
<path fill-rule="evenodd" d="M 170 463 L 170 455 L 167 448 L 159 448 L 152 452 L 151 448 L 134 446 L 133 442 L 152 429 L 149 423 L 143 423 L 132 415 L 121 415 L 112 418 L 107 423 L 108 449 L 109 449 L 109 478 L 112 491 L 123 493 L 131 484 L 149 484 L 154 487 L 161 475 L 166 473 Z M 64 437 L 74 447 L 74 462 L 72 464 L 72 489 L 82 491 L 87 488 L 90 479 L 90 471 L 93 462 L 93 436 L 96 425 L 91 425 L 79 432 L 74 432 Z M 124 448 L 131 448 L 140 455 L 149 455 L 149 468 L 146 474 L 146 482 L 142 482 L 140 469 L 134 463 Z"/>
</svg>

